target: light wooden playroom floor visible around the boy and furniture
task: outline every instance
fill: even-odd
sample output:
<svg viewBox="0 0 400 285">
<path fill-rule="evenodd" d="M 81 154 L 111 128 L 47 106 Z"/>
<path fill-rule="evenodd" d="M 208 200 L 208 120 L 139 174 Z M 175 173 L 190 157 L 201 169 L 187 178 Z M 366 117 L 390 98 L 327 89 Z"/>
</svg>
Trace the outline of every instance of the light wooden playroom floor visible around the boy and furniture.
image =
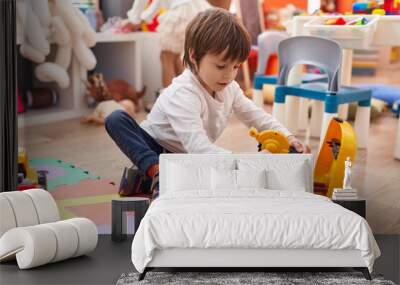
<svg viewBox="0 0 400 285">
<path fill-rule="evenodd" d="M 393 76 L 393 71 L 379 72 L 375 77 L 354 77 L 353 82 L 400 86 L 400 76 Z M 144 117 L 141 113 L 137 120 Z M 367 220 L 375 234 L 400 234 L 400 161 L 393 158 L 397 122 L 387 112 L 371 123 L 368 150 L 358 152 L 354 166 L 353 185 L 367 199 Z M 318 141 L 310 143 L 316 154 Z M 255 140 L 234 117 L 217 144 L 237 153 L 256 152 Z M 123 168 L 131 164 L 103 126 L 81 125 L 78 119 L 21 128 L 19 145 L 27 148 L 30 157 L 59 158 L 116 183 Z"/>
</svg>

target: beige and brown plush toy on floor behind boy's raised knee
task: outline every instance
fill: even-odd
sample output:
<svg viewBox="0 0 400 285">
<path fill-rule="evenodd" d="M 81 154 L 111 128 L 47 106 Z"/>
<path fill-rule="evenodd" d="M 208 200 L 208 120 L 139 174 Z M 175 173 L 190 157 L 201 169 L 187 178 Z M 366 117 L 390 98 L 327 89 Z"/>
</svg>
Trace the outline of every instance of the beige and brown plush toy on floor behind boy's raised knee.
<svg viewBox="0 0 400 285">
<path fill-rule="evenodd" d="M 135 113 L 135 105 L 129 99 L 124 99 L 119 102 L 115 100 L 102 101 L 96 106 L 96 109 L 93 113 L 81 119 L 81 123 L 95 123 L 98 125 L 102 125 L 104 124 L 107 116 L 109 116 L 112 112 L 116 110 L 123 110 L 127 112 L 130 116 L 133 116 Z"/>
</svg>

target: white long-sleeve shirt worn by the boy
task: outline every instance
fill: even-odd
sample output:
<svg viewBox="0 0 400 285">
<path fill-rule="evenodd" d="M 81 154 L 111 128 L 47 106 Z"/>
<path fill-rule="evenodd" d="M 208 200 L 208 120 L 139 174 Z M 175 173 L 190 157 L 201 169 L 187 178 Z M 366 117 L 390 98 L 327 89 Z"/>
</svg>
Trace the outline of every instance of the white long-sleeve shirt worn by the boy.
<svg viewBox="0 0 400 285">
<path fill-rule="evenodd" d="M 237 82 L 233 81 L 213 98 L 189 69 L 163 90 L 141 127 L 174 153 L 230 153 L 214 142 L 226 128 L 231 114 L 249 128 L 273 129 L 291 135 L 248 99 Z"/>
</svg>

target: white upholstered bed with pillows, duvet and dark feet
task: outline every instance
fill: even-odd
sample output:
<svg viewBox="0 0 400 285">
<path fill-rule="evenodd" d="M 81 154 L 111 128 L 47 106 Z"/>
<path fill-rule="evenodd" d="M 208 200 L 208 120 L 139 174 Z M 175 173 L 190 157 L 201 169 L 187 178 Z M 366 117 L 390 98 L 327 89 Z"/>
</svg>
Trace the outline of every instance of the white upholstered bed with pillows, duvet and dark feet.
<svg viewBox="0 0 400 285">
<path fill-rule="evenodd" d="M 132 243 L 140 279 L 155 267 L 354 267 L 370 278 L 380 251 L 367 222 L 310 193 L 312 173 L 311 155 L 162 155 L 160 197 Z"/>
</svg>

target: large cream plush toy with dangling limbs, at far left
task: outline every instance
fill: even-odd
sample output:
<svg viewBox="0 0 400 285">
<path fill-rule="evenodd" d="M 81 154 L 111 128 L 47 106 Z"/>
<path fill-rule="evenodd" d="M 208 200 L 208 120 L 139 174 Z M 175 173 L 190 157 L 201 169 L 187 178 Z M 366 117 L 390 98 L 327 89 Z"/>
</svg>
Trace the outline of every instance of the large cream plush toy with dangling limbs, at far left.
<svg viewBox="0 0 400 285">
<path fill-rule="evenodd" d="M 84 69 L 96 66 L 90 50 L 96 44 L 95 32 L 72 1 L 17 0 L 17 25 L 23 31 L 20 53 L 38 64 L 35 75 L 39 80 L 68 88 L 72 53 Z M 54 63 L 46 62 L 50 43 L 57 45 Z"/>
</svg>

